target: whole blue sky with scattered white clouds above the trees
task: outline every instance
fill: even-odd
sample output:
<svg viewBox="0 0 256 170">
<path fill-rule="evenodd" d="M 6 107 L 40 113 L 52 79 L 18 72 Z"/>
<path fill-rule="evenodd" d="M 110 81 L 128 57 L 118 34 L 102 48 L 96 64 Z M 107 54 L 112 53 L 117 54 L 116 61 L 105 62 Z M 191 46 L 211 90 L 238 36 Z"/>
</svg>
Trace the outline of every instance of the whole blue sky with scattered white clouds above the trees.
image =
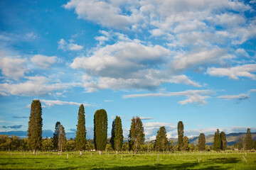
<svg viewBox="0 0 256 170">
<path fill-rule="evenodd" d="M 33 99 L 48 134 L 75 137 L 81 103 L 87 139 L 101 108 L 109 137 L 116 115 L 126 138 L 133 116 L 150 140 L 256 132 L 256 1 L 1 0 L 0 70 L 1 134 L 26 132 Z"/>
</svg>

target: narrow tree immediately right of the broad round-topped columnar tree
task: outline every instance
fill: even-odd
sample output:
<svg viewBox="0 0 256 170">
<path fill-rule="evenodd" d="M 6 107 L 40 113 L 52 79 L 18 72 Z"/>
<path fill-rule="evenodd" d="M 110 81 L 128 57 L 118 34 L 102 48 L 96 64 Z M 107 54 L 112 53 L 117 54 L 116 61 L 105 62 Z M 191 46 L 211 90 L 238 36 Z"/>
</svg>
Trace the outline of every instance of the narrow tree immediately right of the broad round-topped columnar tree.
<svg viewBox="0 0 256 170">
<path fill-rule="evenodd" d="M 123 132 L 122 132 L 122 120 L 119 116 L 116 116 L 114 121 L 114 150 L 116 150 L 117 154 L 122 149 L 123 145 Z"/>
</svg>

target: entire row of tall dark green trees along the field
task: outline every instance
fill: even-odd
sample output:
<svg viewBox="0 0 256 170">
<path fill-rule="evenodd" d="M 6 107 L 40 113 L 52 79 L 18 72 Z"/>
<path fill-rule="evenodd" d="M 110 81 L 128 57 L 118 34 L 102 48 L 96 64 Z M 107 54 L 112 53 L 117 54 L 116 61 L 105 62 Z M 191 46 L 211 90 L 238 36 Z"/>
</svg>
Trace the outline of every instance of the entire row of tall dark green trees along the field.
<svg viewBox="0 0 256 170">
<path fill-rule="evenodd" d="M 28 122 L 28 145 L 33 150 L 33 153 L 36 152 L 36 149 L 41 147 L 42 141 L 42 126 L 43 119 L 41 118 L 42 109 L 41 102 L 39 100 L 33 100 L 31 103 L 31 115 L 29 117 Z M 183 136 L 184 126 L 182 121 L 178 122 L 178 142 L 177 148 L 178 151 L 188 151 L 193 148 L 192 145 L 189 145 L 188 137 Z M 122 120 L 119 116 L 116 116 L 112 123 L 112 132 L 110 144 L 112 149 L 114 149 L 117 153 L 122 150 L 123 145 L 123 134 L 122 134 Z M 251 135 L 250 135 L 250 138 Z M 144 145 L 145 134 L 144 127 L 142 124 L 142 120 L 139 117 L 133 117 L 131 128 L 129 130 L 128 135 L 128 144 L 129 150 L 132 150 L 135 154 L 141 150 Z M 45 142 L 45 141 L 44 141 Z M 66 145 L 66 137 L 65 137 L 65 129 L 60 122 L 55 124 L 55 132 L 53 134 L 53 149 L 62 151 Z M 252 139 L 251 139 L 252 142 Z M 102 150 L 106 149 L 107 146 L 107 112 L 104 109 L 97 110 L 94 115 L 94 140 L 93 144 L 96 150 L 99 153 L 102 153 Z M 85 108 L 81 104 L 78 111 L 78 124 L 77 131 L 75 136 L 75 149 L 80 151 L 82 154 L 82 150 L 86 149 L 87 140 L 86 140 L 86 128 L 85 128 Z M 225 150 L 226 149 L 226 137 L 225 132 L 215 132 L 213 149 L 215 151 Z M 169 150 L 171 147 L 174 147 L 174 144 L 170 145 L 167 135 L 166 129 L 164 126 L 160 127 L 156 134 L 156 140 L 154 141 L 154 149 L 156 151 L 164 152 Z M 203 133 L 200 134 L 198 138 L 198 150 L 206 149 L 206 138 Z M 252 144 L 253 147 L 253 144 Z M 65 147 L 66 148 L 66 147 Z M 87 146 L 88 148 L 88 146 Z M 251 147 L 245 147 L 251 148 Z"/>
</svg>

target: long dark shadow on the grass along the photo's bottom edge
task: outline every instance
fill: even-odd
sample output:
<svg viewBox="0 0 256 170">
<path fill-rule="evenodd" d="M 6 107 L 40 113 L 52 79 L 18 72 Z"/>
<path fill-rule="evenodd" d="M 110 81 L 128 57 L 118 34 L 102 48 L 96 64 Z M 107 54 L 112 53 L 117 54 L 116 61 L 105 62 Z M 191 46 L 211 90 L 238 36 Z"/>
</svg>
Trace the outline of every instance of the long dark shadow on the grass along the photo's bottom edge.
<svg viewBox="0 0 256 170">
<path fill-rule="evenodd" d="M 155 164 L 155 165 L 144 165 L 144 166 L 116 166 L 113 168 L 113 170 L 117 169 L 125 169 L 125 170 L 133 170 L 133 169 L 142 169 L 142 170 L 149 170 L 149 169 L 196 169 L 195 166 L 198 166 L 201 163 L 194 162 L 194 163 L 184 163 L 184 164 Z M 97 168 L 99 169 L 99 168 Z M 94 170 L 97 170 L 94 169 Z M 102 169 L 102 168 L 100 168 Z M 213 170 L 224 170 L 221 166 L 206 166 L 206 167 L 198 167 L 198 169 L 207 170 L 207 169 L 213 169 Z"/>
</svg>

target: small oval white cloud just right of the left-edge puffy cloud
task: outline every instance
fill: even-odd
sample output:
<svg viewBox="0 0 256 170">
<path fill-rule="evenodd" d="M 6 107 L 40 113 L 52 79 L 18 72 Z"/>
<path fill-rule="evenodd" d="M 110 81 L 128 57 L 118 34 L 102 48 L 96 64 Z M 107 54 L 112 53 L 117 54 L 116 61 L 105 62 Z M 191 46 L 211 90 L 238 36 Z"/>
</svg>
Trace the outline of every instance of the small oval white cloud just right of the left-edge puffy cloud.
<svg viewBox="0 0 256 170">
<path fill-rule="evenodd" d="M 45 55 L 34 55 L 31 57 L 31 62 L 41 69 L 49 69 L 51 64 L 54 64 L 57 57 L 47 57 Z"/>
</svg>

